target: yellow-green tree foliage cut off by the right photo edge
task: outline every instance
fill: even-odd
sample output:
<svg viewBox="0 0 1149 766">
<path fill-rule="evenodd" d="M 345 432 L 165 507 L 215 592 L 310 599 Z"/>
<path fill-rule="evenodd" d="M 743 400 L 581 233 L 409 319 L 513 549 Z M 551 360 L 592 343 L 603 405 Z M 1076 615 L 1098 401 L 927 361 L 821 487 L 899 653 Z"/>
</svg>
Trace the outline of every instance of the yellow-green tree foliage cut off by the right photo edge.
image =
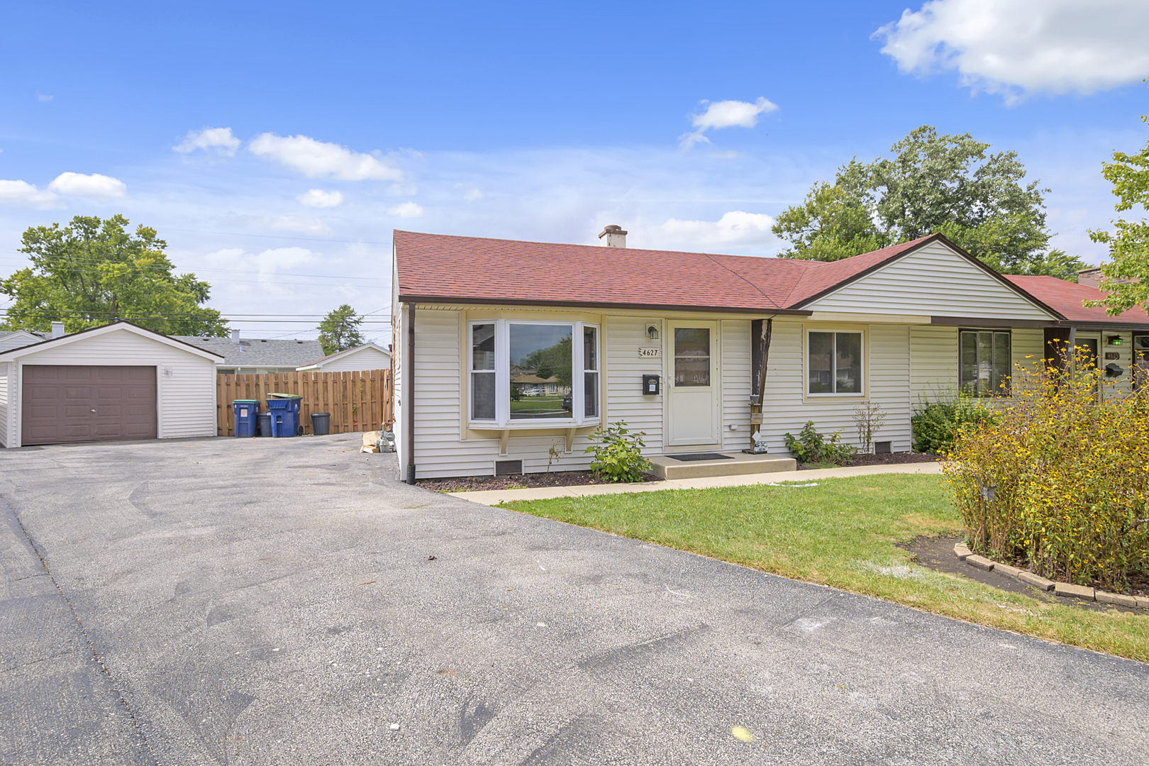
<svg viewBox="0 0 1149 766">
<path fill-rule="evenodd" d="M 1149 78 L 1143 80 L 1149 83 Z M 1141 115 L 1149 124 L 1149 115 Z M 1149 142 L 1136 154 L 1113 152 L 1113 162 L 1103 162 L 1101 175 L 1113 185 L 1116 210 L 1124 212 L 1141 206 L 1149 210 Z M 1090 301 L 1104 305 L 1110 315 L 1140 305 L 1149 311 L 1149 220 L 1111 222 L 1115 231 L 1090 231 L 1095 242 L 1109 246 L 1110 260 L 1101 266 L 1105 300 Z"/>
</svg>

